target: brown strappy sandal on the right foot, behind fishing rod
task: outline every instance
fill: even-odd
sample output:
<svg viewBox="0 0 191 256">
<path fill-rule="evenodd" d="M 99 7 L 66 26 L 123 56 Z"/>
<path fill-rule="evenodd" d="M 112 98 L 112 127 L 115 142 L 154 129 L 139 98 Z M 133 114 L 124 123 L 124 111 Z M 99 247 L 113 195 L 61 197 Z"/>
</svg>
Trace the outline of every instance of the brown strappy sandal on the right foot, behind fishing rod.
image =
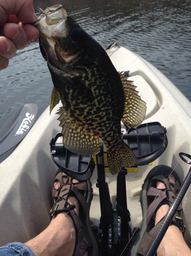
<svg viewBox="0 0 191 256">
<path fill-rule="evenodd" d="M 173 169 L 167 165 L 158 165 L 148 173 L 144 180 L 140 196 L 142 216 L 144 216 L 144 218 L 139 233 L 132 239 L 133 245 L 129 248 L 130 256 L 144 255 L 146 253 L 149 244 L 161 225 L 161 221 L 165 219 L 167 215 L 166 214 L 157 225 L 155 225 L 156 211 L 161 205 L 168 204 L 169 207 L 171 207 L 173 204 L 173 200 L 176 197 L 176 193 L 178 192 L 181 183 L 178 174 L 175 171 L 170 175 L 172 170 Z M 164 189 L 160 190 L 156 188 L 157 180 L 164 183 Z M 183 224 L 182 215 L 183 210 L 179 206 L 171 225 L 174 224 L 178 226 L 184 233 L 186 227 Z"/>
</svg>

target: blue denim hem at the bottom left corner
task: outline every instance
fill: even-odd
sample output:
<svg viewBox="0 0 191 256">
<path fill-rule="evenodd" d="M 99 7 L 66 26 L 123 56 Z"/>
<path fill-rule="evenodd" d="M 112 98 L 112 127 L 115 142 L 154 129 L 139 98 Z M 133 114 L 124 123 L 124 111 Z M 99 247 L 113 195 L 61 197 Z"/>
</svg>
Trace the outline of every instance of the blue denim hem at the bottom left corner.
<svg viewBox="0 0 191 256">
<path fill-rule="evenodd" d="M 35 256 L 29 246 L 23 243 L 10 243 L 0 247 L 0 256 Z"/>
</svg>

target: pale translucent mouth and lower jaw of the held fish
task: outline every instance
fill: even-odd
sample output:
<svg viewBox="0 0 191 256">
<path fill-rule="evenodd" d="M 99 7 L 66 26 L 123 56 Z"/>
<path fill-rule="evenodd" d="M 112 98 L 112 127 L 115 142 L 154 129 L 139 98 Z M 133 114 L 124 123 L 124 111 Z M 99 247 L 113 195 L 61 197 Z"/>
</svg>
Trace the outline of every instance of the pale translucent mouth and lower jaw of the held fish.
<svg viewBox="0 0 191 256">
<path fill-rule="evenodd" d="M 79 26 L 62 5 L 54 5 L 42 10 L 38 9 L 39 20 L 32 23 L 40 33 L 43 57 L 60 69 L 65 69 L 63 64 L 72 63 L 78 57 L 80 49 L 71 39 L 71 31 L 79 31 Z M 73 30 L 74 29 L 74 30 Z M 77 33 L 78 35 L 78 33 Z"/>
</svg>

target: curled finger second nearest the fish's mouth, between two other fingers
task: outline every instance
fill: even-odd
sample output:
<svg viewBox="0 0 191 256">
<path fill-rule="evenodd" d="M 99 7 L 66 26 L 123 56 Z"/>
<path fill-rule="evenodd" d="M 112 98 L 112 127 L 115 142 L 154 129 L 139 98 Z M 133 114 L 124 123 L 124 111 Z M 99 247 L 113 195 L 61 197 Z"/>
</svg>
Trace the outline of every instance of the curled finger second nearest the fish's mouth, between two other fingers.
<svg viewBox="0 0 191 256">
<path fill-rule="evenodd" d="M 28 45 L 27 35 L 21 26 L 14 23 L 6 23 L 3 26 L 3 35 L 13 41 L 18 50 Z"/>
</svg>

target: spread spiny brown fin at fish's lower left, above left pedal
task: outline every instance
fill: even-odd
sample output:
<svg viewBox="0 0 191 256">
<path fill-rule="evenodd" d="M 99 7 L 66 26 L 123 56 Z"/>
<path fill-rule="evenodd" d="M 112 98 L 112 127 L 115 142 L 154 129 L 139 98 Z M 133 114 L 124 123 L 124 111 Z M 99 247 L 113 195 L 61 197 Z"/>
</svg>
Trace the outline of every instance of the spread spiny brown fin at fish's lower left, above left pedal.
<svg viewBox="0 0 191 256">
<path fill-rule="evenodd" d="M 60 107 L 57 114 L 62 127 L 63 145 L 79 155 L 94 155 L 100 151 L 101 140 L 89 134 L 83 127 L 76 125 Z"/>
</svg>

